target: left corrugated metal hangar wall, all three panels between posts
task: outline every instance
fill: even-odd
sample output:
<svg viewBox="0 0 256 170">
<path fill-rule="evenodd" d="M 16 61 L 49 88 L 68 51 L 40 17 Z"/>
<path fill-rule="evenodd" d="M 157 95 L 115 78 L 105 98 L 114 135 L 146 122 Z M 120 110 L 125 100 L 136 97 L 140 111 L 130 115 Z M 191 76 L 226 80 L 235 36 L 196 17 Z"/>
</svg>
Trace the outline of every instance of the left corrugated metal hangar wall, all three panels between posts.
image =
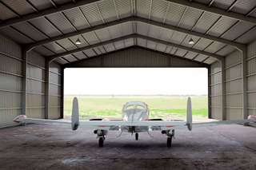
<svg viewBox="0 0 256 170">
<path fill-rule="evenodd" d="M 0 37 L 0 128 L 18 125 L 22 112 L 22 47 Z M 27 56 L 26 116 L 45 118 L 46 59 L 33 51 Z M 50 63 L 49 119 L 62 117 L 62 69 Z"/>
</svg>

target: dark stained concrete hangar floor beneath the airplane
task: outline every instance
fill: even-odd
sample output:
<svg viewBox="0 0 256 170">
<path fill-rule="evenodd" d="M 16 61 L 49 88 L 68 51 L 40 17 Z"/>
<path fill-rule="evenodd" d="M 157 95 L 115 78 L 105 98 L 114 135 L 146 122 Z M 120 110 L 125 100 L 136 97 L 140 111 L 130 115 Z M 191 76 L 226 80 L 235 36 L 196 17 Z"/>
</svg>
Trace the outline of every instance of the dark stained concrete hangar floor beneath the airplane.
<svg viewBox="0 0 256 170">
<path fill-rule="evenodd" d="M 256 128 L 222 125 L 161 132 L 111 131 L 98 147 L 93 130 L 54 125 L 0 129 L 0 169 L 256 169 Z"/>
</svg>

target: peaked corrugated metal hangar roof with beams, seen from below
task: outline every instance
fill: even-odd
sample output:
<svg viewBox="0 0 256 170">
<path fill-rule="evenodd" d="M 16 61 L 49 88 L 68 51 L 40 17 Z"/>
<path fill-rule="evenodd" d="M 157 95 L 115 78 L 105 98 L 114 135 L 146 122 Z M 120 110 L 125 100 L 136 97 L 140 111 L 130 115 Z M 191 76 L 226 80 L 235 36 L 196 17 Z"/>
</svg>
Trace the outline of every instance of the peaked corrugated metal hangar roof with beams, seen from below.
<svg viewBox="0 0 256 170">
<path fill-rule="evenodd" d="M 214 55 L 236 50 L 232 43 L 256 38 L 255 6 L 254 0 L 0 0 L 0 34 L 34 44 L 45 57 L 62 54 L 60 64 L 138 45 L 210 65 Z M 142 37 L 128 37 L 134 34 Z"/>
</svg>

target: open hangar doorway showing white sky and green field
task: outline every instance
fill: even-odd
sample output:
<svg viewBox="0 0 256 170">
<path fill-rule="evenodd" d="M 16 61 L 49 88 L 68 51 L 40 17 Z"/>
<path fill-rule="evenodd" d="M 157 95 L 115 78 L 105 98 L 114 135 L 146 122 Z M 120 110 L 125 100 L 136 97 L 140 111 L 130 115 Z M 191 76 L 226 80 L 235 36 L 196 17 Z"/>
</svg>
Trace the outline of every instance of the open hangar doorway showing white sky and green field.
<svg viewBox="0 0 256 170">
<path fill-rule="evenodd" d="M 66 68 L 64 118 L 78 97 L 81 118 L 122 117 L 127 101 L 144 101 L 150 118 L 186 118 L 192 100 L 194 118 L 208 117 L 206 68 Z"/>
</svg>

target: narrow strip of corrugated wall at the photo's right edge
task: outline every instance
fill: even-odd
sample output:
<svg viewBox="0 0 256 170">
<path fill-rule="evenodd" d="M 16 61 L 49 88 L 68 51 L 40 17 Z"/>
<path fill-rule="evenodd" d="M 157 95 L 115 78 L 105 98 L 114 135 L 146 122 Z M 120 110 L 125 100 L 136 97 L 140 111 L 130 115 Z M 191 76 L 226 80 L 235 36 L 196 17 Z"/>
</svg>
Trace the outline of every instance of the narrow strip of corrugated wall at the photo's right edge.
<svg viewBox="0 0 256 170">
<path fill-rule="evenodd" d="M 256 115 L 256 41 L 247 49 L 248 114 Z"/>
</svg>

